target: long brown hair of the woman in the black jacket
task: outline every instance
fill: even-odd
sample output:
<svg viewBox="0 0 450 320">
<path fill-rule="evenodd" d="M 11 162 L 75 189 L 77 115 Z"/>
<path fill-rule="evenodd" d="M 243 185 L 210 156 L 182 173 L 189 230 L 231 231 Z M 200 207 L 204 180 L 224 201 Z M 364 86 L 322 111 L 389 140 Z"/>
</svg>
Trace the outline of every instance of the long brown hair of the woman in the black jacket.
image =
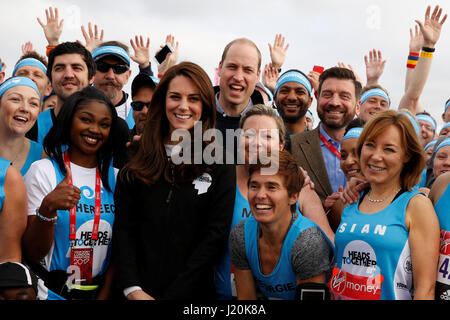
<svg viewBox="0 0 450 320">
<path fill-rule="evenodd" d="M 178 76 L 191 79 L 199 89 L 202 102 L 200 118 L 202 135 L 206 130 L 215 128 L 216 100 L 211 80 L 206 72 L 192 62 L 181 62 L 171 67 L 164 73 L 153 93 L 139 149 L 121 171 L 121 176 L 124 175 L 129 181 L 134 176 L 144 184 L 153 185 L 163 174 L 168 182 L 174 182 L 174 180 L 185 182 L 192 181 L 202 173 L 209 171 L 209 166 L 205 163 L 173 165 L 166 155 L 164 141 L 170 134 L 170 123 L 166 116 L 166 95 L 169 84 Z M 203 142 L 203 148 L 206 144 Z M 191 150 L 195 151 L 195 148 Z M 194 157 L 194 152 L 192 152 L 192 157 Z M 171 169 L 173 169 L 173 174 L 170 172 Z"/>
</svg>

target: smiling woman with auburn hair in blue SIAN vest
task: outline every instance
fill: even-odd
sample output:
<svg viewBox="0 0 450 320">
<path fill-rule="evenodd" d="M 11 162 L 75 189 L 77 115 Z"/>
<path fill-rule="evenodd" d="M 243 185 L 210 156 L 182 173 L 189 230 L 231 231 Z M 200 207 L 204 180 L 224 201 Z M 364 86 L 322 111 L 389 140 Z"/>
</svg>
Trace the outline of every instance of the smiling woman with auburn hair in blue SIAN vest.
<svg viewBox="0 0 450 320">
<path fill-rule="evenodd" d="M 356 146 L 369 182 L 347 206 L 335 237 L 335 299 L 434 299 L 439 223 L 416 186 L 425 167 L 412 122 L 396 111 L 378 113 Z"/>
</svg>

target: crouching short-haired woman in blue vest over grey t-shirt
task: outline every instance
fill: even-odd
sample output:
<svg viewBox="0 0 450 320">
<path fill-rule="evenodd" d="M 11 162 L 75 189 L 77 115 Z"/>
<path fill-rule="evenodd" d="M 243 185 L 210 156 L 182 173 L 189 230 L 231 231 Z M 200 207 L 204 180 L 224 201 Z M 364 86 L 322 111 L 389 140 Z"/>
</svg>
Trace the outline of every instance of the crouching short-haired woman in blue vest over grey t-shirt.
<svg viewBox="0 0 450 320">
<path fill-rule="evenodd" d="M 293 300 L 298 285 L 325 283 L 333 250 L 320 228 L 296 211 L 303 174 L 291 154 L 280 151 L 277 173 L 264 169 L 249 166 L 252 217 L 230 235 L 237 297 L 257 299 L 257 286 L 266 298 Z"/>
</svg>

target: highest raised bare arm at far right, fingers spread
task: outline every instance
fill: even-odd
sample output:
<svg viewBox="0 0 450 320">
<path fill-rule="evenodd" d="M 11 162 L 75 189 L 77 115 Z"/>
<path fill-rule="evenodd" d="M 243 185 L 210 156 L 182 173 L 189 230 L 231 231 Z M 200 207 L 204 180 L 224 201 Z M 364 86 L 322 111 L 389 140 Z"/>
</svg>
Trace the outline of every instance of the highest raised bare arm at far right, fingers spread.
<svg viewBox="0 0 450 320">
<path fill-rule="evenodd" d="M 398 106 L 398 109 L 406 108 L 414 115 L 421 111 L 418 108 L 419 98 L 428 79 L 435 45 L 439 40 L 442 26 L 447 19 L 447 14 L 441 19 L 442 9 L 439 8 L 439 6 L 434 8 L 431 15 L 430 12 L 431 7 L 428 6 L 423 23 L 419 20 L 415 20 L 423 35 L 423 48 L 414 72 L 408 80 L 406 92 L 401 98 Z"/>
</svg>

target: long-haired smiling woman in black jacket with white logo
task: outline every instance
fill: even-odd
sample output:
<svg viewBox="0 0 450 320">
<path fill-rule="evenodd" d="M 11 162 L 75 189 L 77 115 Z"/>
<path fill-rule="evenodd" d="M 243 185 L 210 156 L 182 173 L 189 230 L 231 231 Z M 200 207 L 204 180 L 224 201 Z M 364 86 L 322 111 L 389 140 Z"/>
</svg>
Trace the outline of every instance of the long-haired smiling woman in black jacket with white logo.
<svg viewBox="0 0 450 320">
<path fill-rule="evenodd" d="M 198 65 L 180 63 L 164 74 L 149 109 L 116 185 L 117 282 L 127 299 L 211 299 L 236 185 L 234 166 L 207 164 L 214 146 L 202 137 L 216 119 L 211 81 Z"/>
</svg>

